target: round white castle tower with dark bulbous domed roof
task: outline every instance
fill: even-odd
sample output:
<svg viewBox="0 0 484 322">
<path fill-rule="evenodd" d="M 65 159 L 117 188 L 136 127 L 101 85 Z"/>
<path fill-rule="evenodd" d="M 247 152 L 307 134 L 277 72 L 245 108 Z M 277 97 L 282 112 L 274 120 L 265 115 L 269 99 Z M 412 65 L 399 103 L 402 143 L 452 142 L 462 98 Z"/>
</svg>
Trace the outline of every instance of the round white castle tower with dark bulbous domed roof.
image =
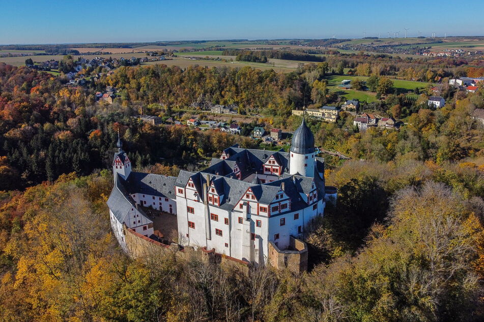
<svg viewBox="0 0 484 322">
<path fill-rule="evenodd" d="M 314 177 L 316 163 L 314 135 L 306 125 L 304 114 L 301 125 L 294 132 L 289 153 L 289 174 Z"/>
</svg>

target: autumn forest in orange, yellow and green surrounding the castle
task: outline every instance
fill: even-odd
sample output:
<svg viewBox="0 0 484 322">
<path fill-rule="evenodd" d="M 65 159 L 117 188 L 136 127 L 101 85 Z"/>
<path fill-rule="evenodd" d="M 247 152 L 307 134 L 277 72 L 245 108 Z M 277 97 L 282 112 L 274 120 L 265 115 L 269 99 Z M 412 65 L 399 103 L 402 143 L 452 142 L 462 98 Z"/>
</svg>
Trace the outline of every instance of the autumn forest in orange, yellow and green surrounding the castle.
<svg viewBox="0 0 484 322">
<path fill-rule="evenodd" d="M 234 143 L 257 147 L 247 137 L 140 123 L 131 117 L 138 106 L 183 119 L 193 103 L 235 103 L 258 114 L 244 128 L 294 130 L 301 119 L 291 109 L 340 101 L 324 80 L 338 65 L 359 76 L 433 80 L 481 68 L 376 56 L 287 74 L 156 65 L 121 67 L 81 87 L 0 64 L 0 319 L 482 320 L 484 129 L 470 116 L 484 108 L 482 88 L 443 86 L 438 110 L 426 107 L 425 93 L 385 93 L 363 105 L 403 118 L 398 131 L 358 132 L 347 112 L 336 123 L 308 120 L 318 146 L 352 159 L 323 155 L 338 202 L 305 237 L 307 273 L 213 265 L 197 253 L 133 261 L 117 247 L 105 202 L 118 131 L 135 170 L 160 174 L 194 170 Z M 119 97 L 96 103 L 107 85 Z M 204 117 L 188 115 L 197 113 Z"/>
</svg>

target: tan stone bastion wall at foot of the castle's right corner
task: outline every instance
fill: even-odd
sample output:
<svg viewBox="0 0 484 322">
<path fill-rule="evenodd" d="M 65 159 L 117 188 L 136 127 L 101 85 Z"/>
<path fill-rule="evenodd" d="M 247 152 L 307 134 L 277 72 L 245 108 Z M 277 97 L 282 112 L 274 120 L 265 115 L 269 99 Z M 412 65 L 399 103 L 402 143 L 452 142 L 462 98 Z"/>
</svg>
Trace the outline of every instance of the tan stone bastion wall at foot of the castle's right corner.
<svg viewBox="0 0 484 322">
<path fill-rule="evenodd" d="M 307 271 L 307 245 L 290 236 L 290 250 L 280 250 L 273 241 L 269 241 L 269 263 L 277 268 L 287 268 L 292 272 Z"/>
</svg>

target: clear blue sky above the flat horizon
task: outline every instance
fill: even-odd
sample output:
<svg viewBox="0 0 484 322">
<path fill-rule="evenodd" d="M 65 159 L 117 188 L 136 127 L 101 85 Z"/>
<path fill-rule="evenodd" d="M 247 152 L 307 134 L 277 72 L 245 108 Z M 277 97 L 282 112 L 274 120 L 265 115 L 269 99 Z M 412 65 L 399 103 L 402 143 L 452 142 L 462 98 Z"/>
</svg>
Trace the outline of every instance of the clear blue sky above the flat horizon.
<svg viewBox="0 0 484 322">
<path fill-rule="evenodd" d="M 0 44 L 484 35 L 484 2 L 2 1 Z"/>
</svg>

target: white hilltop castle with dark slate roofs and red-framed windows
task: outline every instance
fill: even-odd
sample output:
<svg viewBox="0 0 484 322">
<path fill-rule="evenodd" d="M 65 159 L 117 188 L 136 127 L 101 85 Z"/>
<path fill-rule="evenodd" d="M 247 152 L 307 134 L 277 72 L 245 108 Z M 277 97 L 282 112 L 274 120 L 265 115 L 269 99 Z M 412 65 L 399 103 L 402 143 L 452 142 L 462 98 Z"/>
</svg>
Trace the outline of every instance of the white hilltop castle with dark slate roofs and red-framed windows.
<svg viewBox="0 0 484 322">
<path fill-rule="evenodd" d="M 289 152 L 235 145 L 205 170 L 181 171 L 178 177 L 132 172 L 119 140 L 107 201 L 112 230 L 125 251 L 125 229 L 156 239 L 153 221 L 139 205 L 151 207 L 176 214 L 179 244 L 265 264 L 270 252 L 297 251 L 294 240 L 323 215 L 324 159 L 316 154 L 304 118 Z"/>
</svg>

